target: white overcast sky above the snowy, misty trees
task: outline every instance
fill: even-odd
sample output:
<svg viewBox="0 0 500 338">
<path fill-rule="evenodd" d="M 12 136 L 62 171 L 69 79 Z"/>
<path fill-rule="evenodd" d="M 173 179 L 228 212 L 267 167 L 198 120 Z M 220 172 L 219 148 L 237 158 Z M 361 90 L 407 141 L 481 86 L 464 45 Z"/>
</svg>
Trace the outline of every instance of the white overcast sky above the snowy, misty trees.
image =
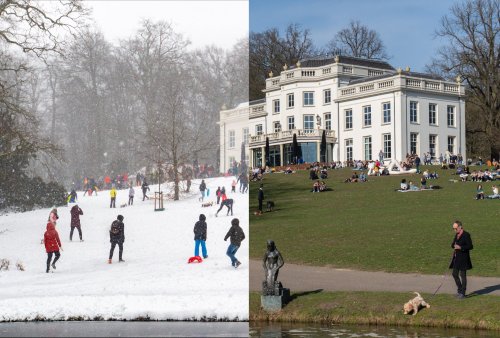
<svg viewBox="0 0 500 338">
<path fill-rule="evenodd" d="M 85 1 L 108 41 L 132 36 L 141 19 L 164 20 L 176 33 L 191 41 L 192 48 L 216 45 L 230 49 L 248 37 L 248 0 L 184 1 Z"/>
</svg>

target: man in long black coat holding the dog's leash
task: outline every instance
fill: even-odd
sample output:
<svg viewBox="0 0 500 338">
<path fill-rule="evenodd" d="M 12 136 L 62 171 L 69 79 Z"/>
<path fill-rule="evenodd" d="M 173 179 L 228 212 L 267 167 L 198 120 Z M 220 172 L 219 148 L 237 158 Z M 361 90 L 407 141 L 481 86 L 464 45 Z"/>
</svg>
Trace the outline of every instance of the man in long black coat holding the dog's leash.
<svg viewBox="0 0 500 338">
<path fill-rule="evenodd" d="M 457 297 L 463 299 L 467 289 L 467 270 L 472 269 L 469 251 L 473 249 L 473 245 L 470 234 L 463 229 L 462 222 L 455 221 L 453 230 L 455 231 L 455 237 L 451 243 L 451 248 L 454 252 L 450 269 L 453 269 L 452 275 L 455 284 L 457 284 Z"/>
</svg>

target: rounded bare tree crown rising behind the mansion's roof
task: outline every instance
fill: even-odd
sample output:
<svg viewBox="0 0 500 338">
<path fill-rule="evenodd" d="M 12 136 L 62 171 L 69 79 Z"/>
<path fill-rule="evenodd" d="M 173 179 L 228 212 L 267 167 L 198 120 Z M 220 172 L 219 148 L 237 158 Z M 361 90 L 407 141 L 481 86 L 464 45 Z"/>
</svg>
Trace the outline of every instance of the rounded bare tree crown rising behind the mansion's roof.
<svg viewBox="0 0 500 338">
<path fill-rule="evenodd" d="M 359 21 L 351 21 L 349 27 L 339 31 L 328 43 L 327 52 L 367 59 L 389 58 L 379 34 Z"/>
</svg>

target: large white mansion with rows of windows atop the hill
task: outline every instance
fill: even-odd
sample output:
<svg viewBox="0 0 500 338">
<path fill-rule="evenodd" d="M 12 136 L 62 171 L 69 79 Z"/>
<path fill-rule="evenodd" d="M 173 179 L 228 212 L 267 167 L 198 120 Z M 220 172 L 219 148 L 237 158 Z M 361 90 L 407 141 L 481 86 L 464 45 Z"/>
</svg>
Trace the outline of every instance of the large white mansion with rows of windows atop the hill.
<svg viewBox="0 0 500 338">
<path fill-rule="evenodd" d="M 265 99 L 220 112 L 221 171 L 248 144 L 250 167 L 293 161 L 402 160 L 407 153 L 465 154 L 464 86 L 383 61 L 346 56 L 302 60 L 269 74 Z M 326 154 L 320 156 L 323 131 Z M 324 143 L 324 141 L 323 141 Z"/>
</svg>

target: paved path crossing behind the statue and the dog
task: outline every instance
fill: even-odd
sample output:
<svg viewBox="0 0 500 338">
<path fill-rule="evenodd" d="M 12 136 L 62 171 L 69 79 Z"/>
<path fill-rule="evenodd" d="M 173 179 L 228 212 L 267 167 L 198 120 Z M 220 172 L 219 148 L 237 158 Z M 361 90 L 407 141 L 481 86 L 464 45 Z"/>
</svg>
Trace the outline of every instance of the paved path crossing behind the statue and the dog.
<svg viewBox="0 0 500 338">
<path fill-rule="evenodd" d="M 313 291 L 393 291 L 425 292 L 433 294 L 441 283 L 438 293 L 456 293 L 451 270 L 443 275 L 421 275 L 387 272 L 367 272 L 348 269 L 304 266 L 285 263 L 278 278 L 292 292 Z M 250 290 L 260 291 L 264 280 L 262 262 L 250 261 Z M 467 293 L 500 296 L 500 278 L 467 277 Z"/>
</svg>

